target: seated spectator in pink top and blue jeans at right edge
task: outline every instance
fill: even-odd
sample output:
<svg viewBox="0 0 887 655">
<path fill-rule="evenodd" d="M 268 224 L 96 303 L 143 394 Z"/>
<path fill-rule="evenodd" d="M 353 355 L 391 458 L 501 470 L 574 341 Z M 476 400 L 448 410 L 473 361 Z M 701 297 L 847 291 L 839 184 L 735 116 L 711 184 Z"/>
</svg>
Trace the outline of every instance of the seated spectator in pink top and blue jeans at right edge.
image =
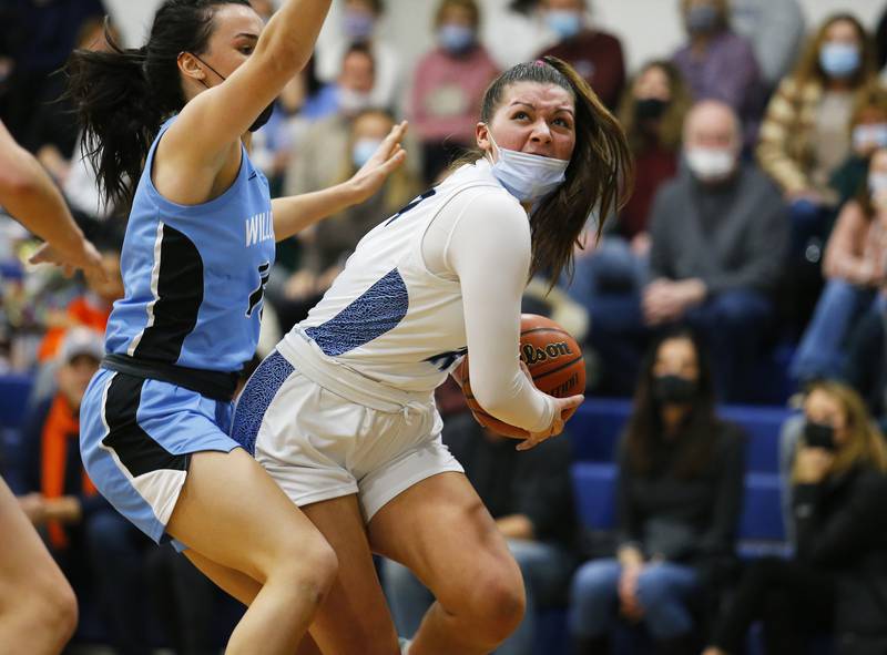
<svg viewBox="0 0 887 655">
<path fill-rule="evenodd" d="M 840 211 L 823 273 L 828 282 L 792 362 L 802 383 L 842 375 L 850 326 L 860 314 L 887 310 L 887 149 L 875 151 L 867 188 Z"/>
</svg>

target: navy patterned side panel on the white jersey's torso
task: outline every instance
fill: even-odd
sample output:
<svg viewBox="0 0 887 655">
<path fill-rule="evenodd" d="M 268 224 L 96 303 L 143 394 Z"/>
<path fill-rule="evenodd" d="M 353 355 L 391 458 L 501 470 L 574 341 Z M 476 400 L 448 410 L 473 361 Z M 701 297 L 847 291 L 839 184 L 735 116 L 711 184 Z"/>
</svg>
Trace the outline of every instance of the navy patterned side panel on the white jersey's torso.
<svg viewBox="0 0 887 655">
<path fill-rule="evenodd" d="M 329 357 L 336 357 L 369 344 L 392 330 L 409 308 L 407 285 L 395 268 L 364 291 L 345 309 L 305 334 Z"/>
</svg>

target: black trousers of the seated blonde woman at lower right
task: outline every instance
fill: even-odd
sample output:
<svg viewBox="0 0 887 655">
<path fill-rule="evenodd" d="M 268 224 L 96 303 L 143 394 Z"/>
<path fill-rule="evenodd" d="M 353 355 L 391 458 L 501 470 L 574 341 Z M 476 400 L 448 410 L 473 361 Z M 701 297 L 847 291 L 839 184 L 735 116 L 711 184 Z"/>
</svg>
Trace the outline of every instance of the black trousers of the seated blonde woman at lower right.
<svg viewBox="0 0 887 655">
<path fill-rule="evenodd" d="M 712 644 L 741 653 L 748 627 L 759 618 L 767 655 L 801 655 L 810 634 L 832 626 L 834 604 L 830 575 L 793 560 L 762 557 L 746 569 Z"/>
</svg>

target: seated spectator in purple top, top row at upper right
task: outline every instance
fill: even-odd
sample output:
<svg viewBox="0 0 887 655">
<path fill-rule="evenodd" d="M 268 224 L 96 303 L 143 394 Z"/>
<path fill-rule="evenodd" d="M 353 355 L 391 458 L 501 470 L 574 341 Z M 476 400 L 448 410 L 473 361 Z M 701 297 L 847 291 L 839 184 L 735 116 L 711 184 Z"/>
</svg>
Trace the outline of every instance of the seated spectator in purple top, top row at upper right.
<svg viewBox="0 0 887 655">
<path fill-rule="evenodd" d="M 726 0 L 682 0 L 690 41 L 674 53 L 695 102 L 720 100 L 742 121 L 751 146 L 763 112 L 763 83 L 752 44 L 730 29 Z"/>
</svg>

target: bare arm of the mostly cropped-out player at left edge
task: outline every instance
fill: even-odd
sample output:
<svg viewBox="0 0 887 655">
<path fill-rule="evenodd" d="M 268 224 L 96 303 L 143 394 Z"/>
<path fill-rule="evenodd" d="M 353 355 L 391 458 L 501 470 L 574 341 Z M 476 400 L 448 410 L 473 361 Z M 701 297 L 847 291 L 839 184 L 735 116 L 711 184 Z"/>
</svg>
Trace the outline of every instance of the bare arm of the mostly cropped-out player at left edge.
<svg viewBox="0 0 887 655">
<path fill-rule="evenodd" d="M 102 258 L 83 238 L 62 194 L 31 153 L 0 122 L 0 205 L 48 244 L 35 262 L 83 268 L 103 276 Z"/>
</svg>

